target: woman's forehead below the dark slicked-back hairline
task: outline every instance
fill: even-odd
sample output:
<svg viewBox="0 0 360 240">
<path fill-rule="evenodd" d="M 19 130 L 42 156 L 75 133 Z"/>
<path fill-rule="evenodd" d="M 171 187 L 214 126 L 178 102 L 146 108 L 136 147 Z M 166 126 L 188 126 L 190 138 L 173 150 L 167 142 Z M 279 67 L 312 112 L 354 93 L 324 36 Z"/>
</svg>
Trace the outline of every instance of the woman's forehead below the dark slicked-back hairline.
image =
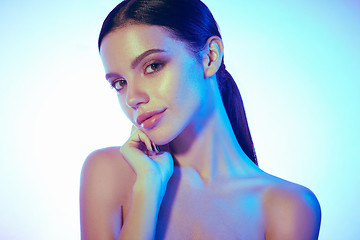
<svg viewBox="0 0 360 240">
<path fill-rule="evenodd" d="M 152 54 L 172 59 L 193 58 L 184 42 L 159 26 L 130 25 L 106 35 L 101 43 L 100 56 L 107 73 L 133 70 Z"/>
</svg>

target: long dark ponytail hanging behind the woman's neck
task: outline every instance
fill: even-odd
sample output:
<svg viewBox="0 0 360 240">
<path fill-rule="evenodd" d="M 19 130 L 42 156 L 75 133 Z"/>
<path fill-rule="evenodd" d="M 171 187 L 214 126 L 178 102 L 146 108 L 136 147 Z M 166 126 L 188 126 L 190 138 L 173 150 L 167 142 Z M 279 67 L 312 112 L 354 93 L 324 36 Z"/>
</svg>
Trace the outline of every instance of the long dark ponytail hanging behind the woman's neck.
<svg viewBox="0 0 360 240">
<path fill-rule="evenodd" d="M 216 77 L 236 139 L 245 154 L 258 165 L 240 91 L 231 74 L 226 70 L 224 62 L 222 62 Z"/>
</svg>

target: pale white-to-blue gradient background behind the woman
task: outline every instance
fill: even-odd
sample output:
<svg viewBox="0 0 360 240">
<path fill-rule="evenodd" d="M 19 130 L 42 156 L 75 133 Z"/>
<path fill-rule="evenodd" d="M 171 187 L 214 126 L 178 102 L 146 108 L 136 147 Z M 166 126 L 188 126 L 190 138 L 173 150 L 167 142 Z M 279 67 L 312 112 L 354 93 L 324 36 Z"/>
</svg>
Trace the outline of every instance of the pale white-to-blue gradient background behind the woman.
<svg viewBox="0 0 360 240">
<path fill-rule="evenodd" d="M 117 3 L 1 2 L 0 239 L 80 238 L 83 161 L 130 131 L 97 52 Z M 358 239 L 360 2 L 205 3 L 261 168 L 317 195 L 320 239 Z"/>
</svg>

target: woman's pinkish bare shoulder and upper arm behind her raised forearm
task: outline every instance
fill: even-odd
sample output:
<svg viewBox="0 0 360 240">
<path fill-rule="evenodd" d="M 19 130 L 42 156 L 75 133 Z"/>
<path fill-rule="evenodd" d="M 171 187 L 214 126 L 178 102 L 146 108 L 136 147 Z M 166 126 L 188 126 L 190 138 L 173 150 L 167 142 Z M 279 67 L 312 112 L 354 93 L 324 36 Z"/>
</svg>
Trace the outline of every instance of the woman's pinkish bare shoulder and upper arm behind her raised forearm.
<svg viewBox="0 0 360 240">
<path fill-rule="evenodd" d="M 96 150 L 86 158 L 80 184 L 82 239 L 112 239 L 119 233 L 134 179 L 120 147 Z"/>
</svg>

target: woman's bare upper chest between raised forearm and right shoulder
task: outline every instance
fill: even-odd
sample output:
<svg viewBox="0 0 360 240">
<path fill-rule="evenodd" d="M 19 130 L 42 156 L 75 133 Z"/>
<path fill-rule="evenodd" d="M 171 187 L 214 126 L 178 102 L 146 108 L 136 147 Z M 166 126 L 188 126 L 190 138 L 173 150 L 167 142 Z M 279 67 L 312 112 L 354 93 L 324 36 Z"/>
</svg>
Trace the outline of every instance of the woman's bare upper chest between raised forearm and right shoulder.
<svg viewBox="0 0 360 240">
<path fill-rule="evenodd" d="M 203 185 L 173 178 L 160 208 L 157 239 L 264 239 L 261 191 L 249 181 Z"/>
</svg>

